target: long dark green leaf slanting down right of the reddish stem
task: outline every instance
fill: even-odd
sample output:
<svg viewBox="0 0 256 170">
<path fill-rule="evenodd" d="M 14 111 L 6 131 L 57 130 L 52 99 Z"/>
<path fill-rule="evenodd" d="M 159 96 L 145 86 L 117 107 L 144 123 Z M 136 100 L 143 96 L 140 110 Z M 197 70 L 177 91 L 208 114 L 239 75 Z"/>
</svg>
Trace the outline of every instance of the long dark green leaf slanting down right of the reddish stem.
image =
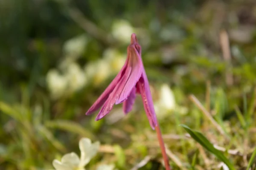
<svg viewBox="0 0 256 170">
<path fill-rule="evenodd" d="M 200 133 L 196 130 L 192 130 L 186 125 L 180 125 L 180 126 L 183 127 L 190 134 L 190 136 L 193 139 L 195 139 L 196 142 L 201 144 L 205 149 L 207 149 L 209 152 L 214 154 L 218 159 L 223 161 L 224 164 L 226 164 L 230 170 L 235 170 L 234 165 L 231 164 L 231 162 L 224 156 L 224 154 L 221 151 L 215 149 L 213 144 L 211 142 L 209 142 L 209 140 L 202 133 Z"/>
</svg>

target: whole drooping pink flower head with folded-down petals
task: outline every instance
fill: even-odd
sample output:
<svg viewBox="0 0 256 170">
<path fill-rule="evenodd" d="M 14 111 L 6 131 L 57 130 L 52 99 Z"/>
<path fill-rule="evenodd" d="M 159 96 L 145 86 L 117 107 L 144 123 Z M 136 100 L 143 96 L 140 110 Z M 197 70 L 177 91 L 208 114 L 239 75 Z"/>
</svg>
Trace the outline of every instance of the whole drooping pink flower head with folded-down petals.
<svg viewBox="0 0 256 170">
<path fill-rule="evenodd" d="M 102 119 L 113 108 L 113 105 L 123 103 L 125 114 L 131 111 L 136 98 L 136 93 L 143 99 L 145 113 L 151 127 L 157 125 L 157 118 L 154 111 L 153 100 L 141 58 L 141 47 L 138 43 L 136 34 L 131 35 L 131 44 L 127 48 L 127 59 L 121 71 L 108 85 L 101 96 L 89 108 L 86 115 L 90 115 L 100 107 L 96 120 Z"/>
</svg>

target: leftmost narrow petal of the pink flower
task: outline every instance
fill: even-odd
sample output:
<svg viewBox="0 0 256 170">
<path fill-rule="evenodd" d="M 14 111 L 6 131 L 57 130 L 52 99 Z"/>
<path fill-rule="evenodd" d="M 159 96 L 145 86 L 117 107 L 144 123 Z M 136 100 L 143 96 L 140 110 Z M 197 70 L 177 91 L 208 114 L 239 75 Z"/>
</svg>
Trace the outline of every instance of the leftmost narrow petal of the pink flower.
<svg viewBox="0 0 256 170">
<path fill-rule="evenodd" d="M 113 89 L 118 84 L 121 77 L 125 74 L 125 70 L 127 68 L 128 59 L 126 59 L 124 66 L 122 67 L 121 71 L 116 75 L 113 81 L 108 85 L 105 91 L 99 96 L 99 98 L 93 103 L 93 105 L 89 108 L 89 110 L 85 113 L 86 115 L 90 115 L 94 111 L 98 110 L 104 102 L 108 99 L 109 94 L 113 91 Z"/>
</svg>

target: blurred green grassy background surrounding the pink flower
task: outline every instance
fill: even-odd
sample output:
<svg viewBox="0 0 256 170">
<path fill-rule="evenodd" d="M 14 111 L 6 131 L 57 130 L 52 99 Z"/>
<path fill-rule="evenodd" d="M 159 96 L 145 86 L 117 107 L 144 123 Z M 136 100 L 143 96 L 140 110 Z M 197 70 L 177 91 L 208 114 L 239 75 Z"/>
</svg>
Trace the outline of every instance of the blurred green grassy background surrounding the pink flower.
<svg viewBox="0 0 256 170">
<path fill-rule="evenodd" d="M 53 169 L 54 159 L 80 154 L 82 137 L 101 143 L 87 169 L 135 170 L 142 160 L 141 169 L 163 168 L 140 96 L 127 116 L 121 105 L 97 122 L 98 112 L 85 116 L 122 68 L 132 33 L 171 166 L 221 169 L 185 124 L 237 150 L 225 154 L 246 167 L 256 142 L 255 0 L 0 0 L 1 170 Z"/>
</svg>

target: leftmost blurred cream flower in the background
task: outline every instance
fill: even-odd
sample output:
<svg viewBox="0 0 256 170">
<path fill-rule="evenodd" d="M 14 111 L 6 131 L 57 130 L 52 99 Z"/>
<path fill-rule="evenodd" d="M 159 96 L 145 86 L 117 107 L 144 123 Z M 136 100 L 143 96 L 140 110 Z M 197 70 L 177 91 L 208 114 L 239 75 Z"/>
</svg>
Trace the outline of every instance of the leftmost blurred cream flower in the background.
<svg viewBox="0 0 256 170">
<path fill-rule="evenodd" d="M 53 98 L 60 97 L 67 88 L 66 77 L 60 75 L 55 69 L 47 73 L 46 82 Z"/>
</svg>

